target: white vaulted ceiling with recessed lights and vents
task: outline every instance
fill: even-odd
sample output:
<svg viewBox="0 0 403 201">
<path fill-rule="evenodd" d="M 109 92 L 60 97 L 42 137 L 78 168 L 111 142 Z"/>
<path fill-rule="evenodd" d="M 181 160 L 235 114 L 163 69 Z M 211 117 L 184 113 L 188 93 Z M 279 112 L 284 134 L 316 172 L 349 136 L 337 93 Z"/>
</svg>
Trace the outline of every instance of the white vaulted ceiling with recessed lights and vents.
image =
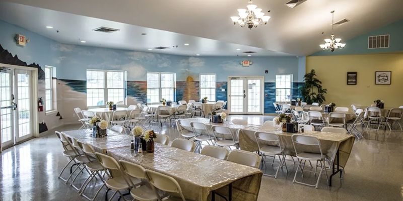
<svg viewBox="0 0 403 201">
<path fill-rule="evenodd" d="M 253 56 L 310 55 L 320 51 L 319 44 L 331 34 L 332 10 L 335 22 L 351 20 L 334 29 L 342 42 L 403 18 L 403 1 L 396 0 L 308 0 L 294 9 L 284 5 L 288 0 L 255 0 L 272 18 L 266 26 L 249 30 L 234 26 L 229 18 L 246 8 L 246 0 L 8 1 L 43 9 L 0 2 L 0 19 L 62 43 L 78 44 L 80 38 L 90 46 L 141 51 L 178 45 L 159 52 L 201 56 L 235 56 L 240 54 L 237 48 L 258 52 Z M 100 26 L 121 31 L 91 31 Z"/>
</svg>

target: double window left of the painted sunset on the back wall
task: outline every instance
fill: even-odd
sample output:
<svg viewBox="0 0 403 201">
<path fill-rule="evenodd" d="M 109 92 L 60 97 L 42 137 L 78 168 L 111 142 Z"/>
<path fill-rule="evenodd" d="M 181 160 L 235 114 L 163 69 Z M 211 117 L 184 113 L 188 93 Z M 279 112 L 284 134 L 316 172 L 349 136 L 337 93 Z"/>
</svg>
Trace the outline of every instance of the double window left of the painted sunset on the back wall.
<svg viewBox="0 0 403 201">
<path fill-rule="evenodd" d="M 147 103 L 158 103 L 161 98 L 174 101 L 175 73 L 147 73 Z"/>
</svg>

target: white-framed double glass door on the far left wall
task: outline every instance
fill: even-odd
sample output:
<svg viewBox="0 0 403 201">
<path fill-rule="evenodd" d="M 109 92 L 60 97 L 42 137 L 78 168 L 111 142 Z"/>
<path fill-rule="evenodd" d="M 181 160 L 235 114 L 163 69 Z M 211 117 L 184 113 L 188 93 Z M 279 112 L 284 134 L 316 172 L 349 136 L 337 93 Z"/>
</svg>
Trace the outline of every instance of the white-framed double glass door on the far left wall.
<svg viewBox="0 0 403 201">
<path fill-rule="evenodd" d="M 31 78 L 29 70 L 0 70 L 2 147 L 12 146 L 33 136 Z"/>
</svg>

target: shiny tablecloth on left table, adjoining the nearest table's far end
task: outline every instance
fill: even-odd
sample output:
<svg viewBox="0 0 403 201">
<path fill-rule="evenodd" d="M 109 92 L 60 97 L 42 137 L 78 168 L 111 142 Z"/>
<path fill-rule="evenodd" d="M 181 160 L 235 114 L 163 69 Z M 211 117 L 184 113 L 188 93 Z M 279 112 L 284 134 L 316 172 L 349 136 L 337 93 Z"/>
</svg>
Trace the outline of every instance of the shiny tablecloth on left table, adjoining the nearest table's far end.
<svg viewBox="0 0 403 201">
<path fill-rule="evenodd" d="M 63 131 L 66 136 L 76 138 L 78 141 L 91 144 L 95 152 L 106 154 L 107 150 L 119 147 L 130 147 L 133 136 L 121 134 L 112 130 L 106 130 L 107 136 L 94 138 L 91 129 Z"/>
</svg>

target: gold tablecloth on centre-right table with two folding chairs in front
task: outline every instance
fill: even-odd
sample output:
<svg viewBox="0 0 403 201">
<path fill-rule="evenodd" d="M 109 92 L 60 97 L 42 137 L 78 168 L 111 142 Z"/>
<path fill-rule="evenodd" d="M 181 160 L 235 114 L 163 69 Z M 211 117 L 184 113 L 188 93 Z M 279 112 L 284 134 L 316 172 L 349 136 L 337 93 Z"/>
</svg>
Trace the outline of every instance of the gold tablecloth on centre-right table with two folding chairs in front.
<svg viewBox="0 0 403 201">
<path fill-rule="evenodd" d="M 263 127 L 263 126 L 252 126 L 246 129 L 239 130 L 239 145 L 242 150 L 246 151 L 258 151 L 259 148 L 257 146 L 256 138 L 254 133 L 256 131 L 267 132 L 267 133 L 275 133 L 279 135 L 281 145 L 285 148 L 285 154 L 295 156 L 295 150 L 293 146 L 293 142 L 291 136 L 296 133 L 286 133 L 282 131 L 278 131 L 275 128 Z M 354 145 L 354 136 L 340 134 L 340 133 L 327 133 L 327 132 L 305 132 L 302 135 L 309 135 L 317 137 L 320 141 L 320 146 L 322 148 L 322 153 L 326 155 L 326 159 L 331 163 L 339 149 L 340 158 L 339 163 L 340 166 L 344 167 L 349 159 L 351 149 Z M 312 149 L 312 146 L 301 146 L 301 149 L 307 152 L 320 153 L 319 149 Z"/>
</svg>

